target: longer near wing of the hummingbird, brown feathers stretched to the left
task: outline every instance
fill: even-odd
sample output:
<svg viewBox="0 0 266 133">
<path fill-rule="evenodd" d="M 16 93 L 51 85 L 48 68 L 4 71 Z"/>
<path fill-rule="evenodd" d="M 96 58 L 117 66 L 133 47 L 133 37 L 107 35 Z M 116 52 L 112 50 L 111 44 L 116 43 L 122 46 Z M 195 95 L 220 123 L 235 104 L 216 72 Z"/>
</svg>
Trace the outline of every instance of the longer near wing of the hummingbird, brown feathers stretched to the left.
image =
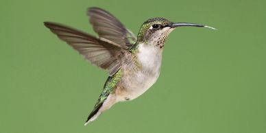
<svg viewBox="0 0 266 133">
<path fill-rule="evenodd" d="M 77 50 L 92 64 L 113 75 L 120 68 L 121 47 L 58 23 L 45 22 L 53 34 Z"/>
</svg>

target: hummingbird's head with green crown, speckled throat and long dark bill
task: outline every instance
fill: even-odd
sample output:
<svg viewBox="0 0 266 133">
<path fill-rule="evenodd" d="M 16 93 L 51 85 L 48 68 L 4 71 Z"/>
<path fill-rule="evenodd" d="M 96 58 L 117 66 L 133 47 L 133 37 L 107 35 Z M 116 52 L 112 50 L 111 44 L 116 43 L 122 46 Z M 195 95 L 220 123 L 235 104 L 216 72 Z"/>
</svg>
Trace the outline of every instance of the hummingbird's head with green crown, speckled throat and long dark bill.
<svg viewBox="0 0 266 133">
<path fill-rule="evenodd" d="M 206 25 L 196 23 L 174 23 L 165 18 L 158 17 L 148 19 L 143 23 L 143 25 L 141 25 L 137 41 L 138 43 L 154 44 L 162 49 L 165 39 L 173 31 L 173 29 L 182 26 L 208 27 Z M 213 27 L 209 28 L 215 29 Z"/>
</svg>

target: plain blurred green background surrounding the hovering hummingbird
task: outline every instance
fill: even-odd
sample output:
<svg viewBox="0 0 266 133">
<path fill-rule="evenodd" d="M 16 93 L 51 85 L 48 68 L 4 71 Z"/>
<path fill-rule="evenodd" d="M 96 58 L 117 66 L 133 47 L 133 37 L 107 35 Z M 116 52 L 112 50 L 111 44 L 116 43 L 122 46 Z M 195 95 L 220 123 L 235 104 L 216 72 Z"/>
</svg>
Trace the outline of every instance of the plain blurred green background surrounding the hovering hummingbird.
<svg viewBox="0 0 266 133">
<path fill-rule="evenodd" d="M 0 132 L 266 132 L 265 1 L 1 1 Z M 43 21 L 96 35 L 86 9 L 112 12 L 135 34 L 149 18 L 202 23 L 171 33 L 161 74 L 138 99 L 84 121 L 108 73 Z"/>
</svg>

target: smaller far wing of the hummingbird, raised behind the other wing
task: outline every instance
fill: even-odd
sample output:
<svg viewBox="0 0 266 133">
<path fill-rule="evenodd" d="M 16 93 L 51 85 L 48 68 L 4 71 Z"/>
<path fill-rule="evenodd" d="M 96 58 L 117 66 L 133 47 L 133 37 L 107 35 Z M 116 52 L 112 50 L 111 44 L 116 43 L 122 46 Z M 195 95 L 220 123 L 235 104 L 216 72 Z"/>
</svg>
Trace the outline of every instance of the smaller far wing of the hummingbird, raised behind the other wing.
<svg viewBox="0 0 266 133">
<path fill-rule="evenodd" d="M 128 49 L 136 42 L 136 36 L 112 14 L 101 8 L 88 8 L 87 12 L 90 16 L 90 23 L 99 38 L 106 38 L 120 45 L 124 49 Z"/>
</svg>

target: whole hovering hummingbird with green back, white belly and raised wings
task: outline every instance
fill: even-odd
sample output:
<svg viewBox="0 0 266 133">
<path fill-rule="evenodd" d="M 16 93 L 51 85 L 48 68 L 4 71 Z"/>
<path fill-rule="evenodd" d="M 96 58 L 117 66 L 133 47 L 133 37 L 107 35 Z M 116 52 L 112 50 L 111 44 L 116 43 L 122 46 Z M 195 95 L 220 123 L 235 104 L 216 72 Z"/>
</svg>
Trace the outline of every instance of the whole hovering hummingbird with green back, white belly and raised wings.
<svg viewBox="0 0 266 133">
<path fill-rule="evenodd" d="M 145 21 L 135 36 L 106 10 L 88 8 L 87 15 L 98 37 L 60 23 L 44 22 L 53 34 L 73 47 L 88 62 L 108 71 L 104 88 L 85 125 L 114 104 L 139 97 L 156 82 L 165 40 L 173 29 L 184 26 L 208 27 L 196 23 L 174 23 L 156 17 Z"/>
</svg>

